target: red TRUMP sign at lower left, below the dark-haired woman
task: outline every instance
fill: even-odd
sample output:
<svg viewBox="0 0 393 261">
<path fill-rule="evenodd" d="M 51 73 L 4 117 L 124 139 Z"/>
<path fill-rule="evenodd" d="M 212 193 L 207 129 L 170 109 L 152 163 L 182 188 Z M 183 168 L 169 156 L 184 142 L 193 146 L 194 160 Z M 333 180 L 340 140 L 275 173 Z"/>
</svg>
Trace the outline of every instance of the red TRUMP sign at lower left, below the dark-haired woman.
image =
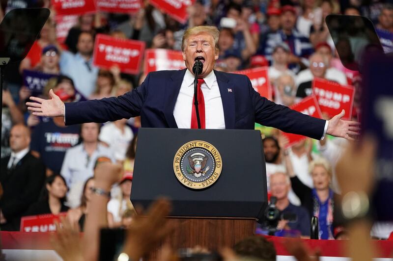
<svg viewBox="0 0 393 261">
<path fill-rule="evenodd" d="M 38 216 L 24 216 L 21 218 L 21 232 L 53 232 L 56 231 L 55 221 L 65 217 L 67 212 L 44 214 Z"/>
</svg>

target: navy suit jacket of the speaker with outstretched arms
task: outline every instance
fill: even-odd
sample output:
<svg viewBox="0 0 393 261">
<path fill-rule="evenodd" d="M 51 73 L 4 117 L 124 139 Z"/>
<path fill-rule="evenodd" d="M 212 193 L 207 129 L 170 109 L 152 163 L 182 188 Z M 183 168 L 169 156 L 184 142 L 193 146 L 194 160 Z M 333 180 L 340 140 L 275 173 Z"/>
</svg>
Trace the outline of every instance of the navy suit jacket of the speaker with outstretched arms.
<svg viewBox="0 0 393 261">
<path fill-rule="evenodd" d="M 135 90 L 119 97 L 65 104 L 65 124 L 107 122 L 140 116 L 147 128 L 177 128 L 173 109 L 186 69 L 147 75 Z M 214 71 L 224 107 L 226 129 L 254 129 L 257 122 L 314 139 L 323 135 L 325 120 L 275 104 L 257 93 L 247 76 Z"/>
</svg>

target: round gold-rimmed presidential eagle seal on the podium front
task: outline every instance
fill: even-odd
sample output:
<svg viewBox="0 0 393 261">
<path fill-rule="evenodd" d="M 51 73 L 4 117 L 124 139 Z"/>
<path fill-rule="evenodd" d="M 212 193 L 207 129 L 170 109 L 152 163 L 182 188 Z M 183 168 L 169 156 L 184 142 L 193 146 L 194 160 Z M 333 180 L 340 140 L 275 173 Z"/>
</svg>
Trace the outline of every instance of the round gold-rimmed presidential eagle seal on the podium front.
<svg viewBox="0 0 393 261">
<path fill-rule="evenodd" d="M 201 189 L 211 186 L 220 177 L 223 161 L 217 149 L 208 142 L 193 140 L 176 152 L 173 170 L 183 185 Z"/>
</svg>

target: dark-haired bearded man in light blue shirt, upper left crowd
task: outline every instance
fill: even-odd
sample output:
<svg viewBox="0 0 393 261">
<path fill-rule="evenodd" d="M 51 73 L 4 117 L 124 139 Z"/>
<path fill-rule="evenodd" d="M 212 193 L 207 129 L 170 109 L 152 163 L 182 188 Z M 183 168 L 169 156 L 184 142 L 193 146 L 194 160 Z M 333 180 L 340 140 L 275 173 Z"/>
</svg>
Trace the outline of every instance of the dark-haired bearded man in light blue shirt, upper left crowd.
<svg viewBox="0 0 393 261">
<path fill-rule="evenodd" d="M 60 73 L 73 79 L 76 89 L 89 97 L 94 89 L 98 68 L 93 65 L 94 36 L 81 32 L 78 38 L 77 53 L 63 51 L 60 57 Z"/>
</svg>

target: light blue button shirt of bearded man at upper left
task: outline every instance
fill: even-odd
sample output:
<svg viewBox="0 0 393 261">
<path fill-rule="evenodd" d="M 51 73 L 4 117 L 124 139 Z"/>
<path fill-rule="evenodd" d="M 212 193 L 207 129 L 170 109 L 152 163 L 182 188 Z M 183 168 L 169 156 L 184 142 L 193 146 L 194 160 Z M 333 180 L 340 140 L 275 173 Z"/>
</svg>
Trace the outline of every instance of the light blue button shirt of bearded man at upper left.
<svg viewBox="0 0 393 261">
<path fill-rule="evenodd" d="M 60 73 L 72 78 L 76 89 L 84 97 L 89 97 L 95 90 L 98 67 L 94 66 L 92 59 L 86 61 L 82 55 L 63 51 L 60 57 Z"/>
</svg>

